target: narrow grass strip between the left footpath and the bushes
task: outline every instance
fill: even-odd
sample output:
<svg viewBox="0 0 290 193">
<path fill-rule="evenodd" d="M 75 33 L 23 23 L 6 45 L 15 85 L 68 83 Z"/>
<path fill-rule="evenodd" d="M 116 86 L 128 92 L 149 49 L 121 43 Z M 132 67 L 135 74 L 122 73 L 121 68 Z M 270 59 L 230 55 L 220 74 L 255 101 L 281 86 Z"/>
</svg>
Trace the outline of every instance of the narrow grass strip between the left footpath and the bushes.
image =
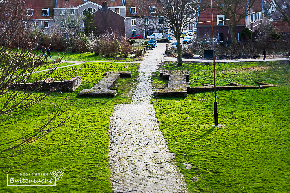
<svg viewBox="0 0 290 193">
<path fill-rule="evenodd" d="M 63 60 L 68 61 L 113 61 L 113 62 L 128 62 L 128 61 L 142 61 L 142 58 L 109 58 L 104 56 L 97 56 L 94 53 L 65 53 L 64 52 L 51 52 L 52 59 L 57 59 L 58 54 L 60 57 L 64 56 Z"/>
</svg>

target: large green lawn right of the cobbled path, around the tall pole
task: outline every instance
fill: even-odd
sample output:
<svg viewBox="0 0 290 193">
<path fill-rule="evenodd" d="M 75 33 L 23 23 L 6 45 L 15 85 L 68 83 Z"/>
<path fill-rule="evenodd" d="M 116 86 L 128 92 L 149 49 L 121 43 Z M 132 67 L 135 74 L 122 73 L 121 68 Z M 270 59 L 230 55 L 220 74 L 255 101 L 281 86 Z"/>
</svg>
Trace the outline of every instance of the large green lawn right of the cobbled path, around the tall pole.
<svg viewBox="0 0 290 193">
<path fill-rule="evenodd" d="M 191 86 L 213 84 L 213 65 L 165 63 L 160 70 L 190 70 Z M 164 86 L 159 73 L 153 84 Z M 189 192 L 290 192 L 290 69 L 287 62 L 217 64 L 217 84 L 280 84 L 218 92 L 219 124 L 212 127 L 214 93 L 152 98 L 157 121 L 175 153 Z M 191 169 L 186 169 L 191 166 Z M 198 181 L 197 181 L 198 180 Z"/>
</svg>

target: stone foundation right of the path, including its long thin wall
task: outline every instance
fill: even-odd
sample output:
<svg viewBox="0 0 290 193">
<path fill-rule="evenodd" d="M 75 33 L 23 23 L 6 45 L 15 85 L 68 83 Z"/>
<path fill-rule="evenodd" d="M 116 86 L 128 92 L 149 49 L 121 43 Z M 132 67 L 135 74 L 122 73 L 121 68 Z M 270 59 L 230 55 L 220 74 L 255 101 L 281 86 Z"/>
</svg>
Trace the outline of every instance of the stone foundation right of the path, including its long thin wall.
<svg viewBox="0 0 290 193">
<path fill-rule="evenodd" d="M 190 87 L 188 70 L 160 71 L 160 77 L 168 79 L 168 87 L 155 88 L 155 96 L 187 96 L 191 93 L 201 93 L 214 91 L 214 85 L 202 84 L 201 87 Z M 267 87 L 276 87 L 278 85 L 268 84 L 266 82 L 256 82 L 260 86 L 246 86 L 236 82 L 230 82 L 229 86 L 217 86 L 217 90 L 240 90 L 240 89 L 262 89 Z"/>
</svg>

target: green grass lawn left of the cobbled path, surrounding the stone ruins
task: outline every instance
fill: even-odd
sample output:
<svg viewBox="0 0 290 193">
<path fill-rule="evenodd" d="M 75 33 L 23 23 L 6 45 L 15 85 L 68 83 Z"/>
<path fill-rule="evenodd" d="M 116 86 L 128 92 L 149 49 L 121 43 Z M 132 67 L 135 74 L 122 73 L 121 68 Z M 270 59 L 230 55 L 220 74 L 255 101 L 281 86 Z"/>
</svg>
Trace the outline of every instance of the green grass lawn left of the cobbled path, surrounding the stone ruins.
<svg viewBox="0 0 290 193">
<path fill-rule="evenodd" d="M 48 155 L 37 160 L 36 166 L 25 169 L 21 173 L 49 173 L 60 168 L 65 168 L 66 173 L 62 180 L 57 181 L 56 187 L 7 187 L 6 174 L 2 172 L 0 192 L 112 192 L 108 165 L 110 116 L 115 104 L 131 102 L 131 91 L 134 88 L 132 83 L 135 83 L 138 65 L 137 63 L 83 63 L 55 70 L 52 74 L 55 75 L 55 80 L 81 76 L 81 86 L 70 93 L 64 102 L 64 106 L 70 105 L 68 115 L 75 112 L 76 114 L 59 130 L 35 143 L 36 148 L 52 147 L 52 150 Z M 124 68 L 125 66 L 128 67 Z M 105 71 L 132 71 L 132 77 L 118 80 L 119 90 L 114 98 L 78 97 L 79 91 L 97 84 L 104 77 L 102 74 Z M 43 74 L 36 73 L 34 77 Z M 32 131 L 48 119 L 53 111 L 53 105 L 60 105 L 65 96 L 66 93 L 52 93 L 26 114 L 40 111 L 52 103 L 47 110 L 12 125 L 0 127 L 0 135 L 6 134 L 7 129 L 9 135 L 6 140 L 11 140 Z M 11 163 L 23 163 L 23 160 L 36 154 L 37 149 L 32 150 L 29 154 L 12 159 Z"/>
</svg>

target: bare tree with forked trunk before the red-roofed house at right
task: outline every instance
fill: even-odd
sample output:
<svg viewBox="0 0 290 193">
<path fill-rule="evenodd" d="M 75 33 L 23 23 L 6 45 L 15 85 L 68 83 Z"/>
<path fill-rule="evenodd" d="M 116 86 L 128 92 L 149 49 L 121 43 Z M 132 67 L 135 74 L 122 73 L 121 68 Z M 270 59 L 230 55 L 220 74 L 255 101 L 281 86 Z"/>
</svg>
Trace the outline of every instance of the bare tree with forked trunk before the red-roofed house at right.
<svg viewBox="0 0 290 193">
<path fill-rule="evenodd" d="M 210 1 L 209 1 L 210 2 Z M 260 7 L 259 7 L 260 5 Z M 208 7 L 208 5 L 207 5 Z M 225 19 L 228 20 L 229 32 L 233 46 L 236 47 L 238 44 L 235 36 L 235 27 L 239 21 L 244 20 L 250 13 L 252 8 L 255 8 L 255 12 L 262 11 L 262 1 L 259 0 L 213 0 L 213 8 L 220 10 L 224 15 Z"/>
</svg>

